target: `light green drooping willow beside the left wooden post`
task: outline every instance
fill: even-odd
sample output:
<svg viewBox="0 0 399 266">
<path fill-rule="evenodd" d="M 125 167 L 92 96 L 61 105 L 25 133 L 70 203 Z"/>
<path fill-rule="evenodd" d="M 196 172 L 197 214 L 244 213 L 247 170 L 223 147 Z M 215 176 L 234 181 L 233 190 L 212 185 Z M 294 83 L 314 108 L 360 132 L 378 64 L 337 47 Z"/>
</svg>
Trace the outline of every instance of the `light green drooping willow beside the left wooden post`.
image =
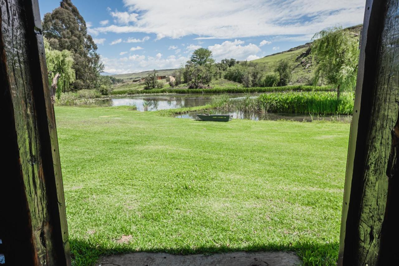
<svg viewBox="0 0 399 266">
<path fill-rule="evenodd" d="M 72 53 L 68 50 L 52 49 L 46 38 L 44 38 L 44 48 L 49 84 L 51 89 L 54 90 L 53 93 L 59 99 L 61 92 L 69 91 L 71 84 L 75 81 Z"/>
</svg>

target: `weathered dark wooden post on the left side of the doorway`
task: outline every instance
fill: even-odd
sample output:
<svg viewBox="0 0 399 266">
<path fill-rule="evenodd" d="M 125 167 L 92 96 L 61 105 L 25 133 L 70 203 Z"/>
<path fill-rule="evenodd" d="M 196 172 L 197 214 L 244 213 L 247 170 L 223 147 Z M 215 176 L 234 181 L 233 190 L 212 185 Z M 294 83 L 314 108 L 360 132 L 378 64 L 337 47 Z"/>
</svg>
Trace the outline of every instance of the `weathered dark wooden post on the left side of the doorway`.
<svg viewBox="0 0 399 266">
<path fill-rule="evenodd" d="M 0 250 L 6 265 L 70 265 L 38 0 L 0 3 Z"/>
</svg>

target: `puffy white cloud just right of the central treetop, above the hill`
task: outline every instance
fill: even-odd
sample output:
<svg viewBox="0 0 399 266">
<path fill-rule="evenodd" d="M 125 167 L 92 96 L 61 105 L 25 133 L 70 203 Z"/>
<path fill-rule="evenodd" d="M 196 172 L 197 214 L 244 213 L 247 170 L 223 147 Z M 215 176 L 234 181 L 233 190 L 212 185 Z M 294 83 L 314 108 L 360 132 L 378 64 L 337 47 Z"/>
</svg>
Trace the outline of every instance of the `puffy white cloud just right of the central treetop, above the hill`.
<svg viewBox="0 0 399 266">
<path fill-rule="evenodd" d="M 222 44 L 215 44 L 209 46 L 208 49 L 212 51 L 213 57 L 216 61 L 223 58 L 234 58 L 237 60 L 245 60 L 250 55 L 255 55 L 261 51 L 256 44 L 242 45 L 244 41 L 234 40 L 234 42 L 225 41 Z"/>
</svg>

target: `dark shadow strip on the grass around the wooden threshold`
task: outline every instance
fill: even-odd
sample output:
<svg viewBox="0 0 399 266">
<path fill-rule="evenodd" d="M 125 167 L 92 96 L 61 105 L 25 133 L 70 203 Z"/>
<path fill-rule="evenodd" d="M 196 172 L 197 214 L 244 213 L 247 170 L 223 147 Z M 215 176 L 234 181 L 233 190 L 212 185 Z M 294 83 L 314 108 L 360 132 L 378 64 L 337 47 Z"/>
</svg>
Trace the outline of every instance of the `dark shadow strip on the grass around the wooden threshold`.
<svg viewBox="0 0 399 266">
<path fill-rule="evenodd" d="M 102 256 L 113 254 L 129 253 L 129 252 L 166 252 L 169 254 L 188 255 L 188 254 L 215 254 L 227 253 L 235 251 L 294 251 L 304 262 L 303 265 L 336 265 L 338 259 L 338 242 L 333 243 L 317 243 L 314 241 L 298 242 L 290 245 L 280 245 L 276 243 L 265 245 L 246 246 L 245 248 L 229 248 L 228 246 L 199 246 L 192 248 L 179 249 L 140 249 L 132 250 L 129 246 L 119 246 L 115 248 L 105 248 L 101 244 L 84 242 L 80 240 L 71 240 L 71 256 L 73 265 L 92 266 L 96 265 L 97 260 Z"/>
</svg>

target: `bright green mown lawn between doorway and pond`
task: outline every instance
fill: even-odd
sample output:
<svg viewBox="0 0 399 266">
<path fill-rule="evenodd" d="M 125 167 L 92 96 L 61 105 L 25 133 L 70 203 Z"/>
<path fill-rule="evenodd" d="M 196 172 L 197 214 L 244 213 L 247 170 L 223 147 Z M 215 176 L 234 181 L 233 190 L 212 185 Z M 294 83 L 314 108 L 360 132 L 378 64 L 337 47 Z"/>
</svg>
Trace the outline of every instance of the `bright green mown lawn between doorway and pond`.
<svg viewBox="0 0 399 266">
<path fill-rule="evenodd" d="M 55 113 L 76 265 L 115 252 L 233 250 L 335 265 L 349 124 Z"/>
</svg>

